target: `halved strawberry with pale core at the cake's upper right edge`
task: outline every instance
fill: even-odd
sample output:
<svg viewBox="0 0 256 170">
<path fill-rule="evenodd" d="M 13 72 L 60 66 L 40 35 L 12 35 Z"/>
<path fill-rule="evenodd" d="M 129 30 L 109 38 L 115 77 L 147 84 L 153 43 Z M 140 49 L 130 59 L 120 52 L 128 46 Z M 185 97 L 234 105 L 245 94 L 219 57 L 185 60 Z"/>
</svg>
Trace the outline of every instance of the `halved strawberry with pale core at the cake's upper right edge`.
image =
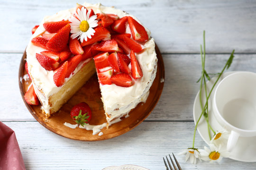
<svg viewBox="0 0 256 170">
<path fill-rule="evenodd" d="M 128 23 L 130 26 L 132 38 L 139 42 L 146 42 L 148 40 L 148 35 L 144 26 L 140 25 L 135 19 L 132 17 L 128 17 Z"/>
</svg>

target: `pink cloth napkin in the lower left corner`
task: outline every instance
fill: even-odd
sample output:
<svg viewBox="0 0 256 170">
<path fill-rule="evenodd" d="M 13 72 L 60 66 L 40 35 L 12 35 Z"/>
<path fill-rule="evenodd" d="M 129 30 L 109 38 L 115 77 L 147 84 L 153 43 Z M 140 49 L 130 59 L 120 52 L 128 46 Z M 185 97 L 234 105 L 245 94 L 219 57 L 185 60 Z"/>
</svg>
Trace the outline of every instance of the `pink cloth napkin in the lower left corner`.
<svg viewBox="0 0 256 170">
<path fill-rule="evenodd" d="M 1 121 L 0 170 L 26 170 L 14 131 Z"/>
</svg>

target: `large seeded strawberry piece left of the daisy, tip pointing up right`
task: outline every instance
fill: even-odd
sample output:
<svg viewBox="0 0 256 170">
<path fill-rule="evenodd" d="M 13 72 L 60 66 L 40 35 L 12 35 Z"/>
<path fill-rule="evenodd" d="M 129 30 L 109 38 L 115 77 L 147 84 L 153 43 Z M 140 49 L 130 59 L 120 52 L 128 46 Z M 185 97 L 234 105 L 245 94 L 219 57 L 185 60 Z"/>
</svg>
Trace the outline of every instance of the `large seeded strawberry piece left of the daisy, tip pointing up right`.
<svg viewBox="0 0 256 170">
<path fill-rule="evenodd" d="M 67 24 L 47 42 L 46 47 L 53 51 L 62 51 L 68 43 L 69 33 L 70 24 Z"/>
</svg>

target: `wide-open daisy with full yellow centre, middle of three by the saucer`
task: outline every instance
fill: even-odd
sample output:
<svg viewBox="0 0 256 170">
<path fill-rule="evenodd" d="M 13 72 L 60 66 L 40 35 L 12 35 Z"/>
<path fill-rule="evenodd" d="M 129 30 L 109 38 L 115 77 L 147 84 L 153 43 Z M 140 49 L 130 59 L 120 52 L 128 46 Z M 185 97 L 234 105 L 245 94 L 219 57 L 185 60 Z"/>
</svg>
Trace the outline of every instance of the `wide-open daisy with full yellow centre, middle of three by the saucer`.
<svg viewBox="0 0 256 170">
<path fill-rule="evenodd" d="M 204 150 L 200 149 L 201 159 L 204 161 L 219 162 L 223 157 L 229 157 L 229 152 L 221 147 L 217 148 L 214 144 L 210 144 L 210 149 L 204 146 Z"/>
</svg>

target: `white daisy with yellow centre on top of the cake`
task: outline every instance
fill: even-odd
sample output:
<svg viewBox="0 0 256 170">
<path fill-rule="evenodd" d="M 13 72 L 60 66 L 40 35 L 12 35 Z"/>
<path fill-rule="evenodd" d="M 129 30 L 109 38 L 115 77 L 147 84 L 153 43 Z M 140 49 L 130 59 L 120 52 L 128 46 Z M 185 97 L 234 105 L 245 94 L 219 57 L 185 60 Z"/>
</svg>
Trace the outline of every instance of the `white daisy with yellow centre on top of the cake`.
<svg viewBox="0 0 256 170">
<path fill-rule="evenodd" d="M 82 7 L 78 8 L 77 12 L 75 12 L 75 17 L 71 16 L 68 20 L 71 22 L 71 38 L 74 39 L 78 37 L 81 42 L 83 40 L 87 41 L 87 37 L 91 39 L 91 35 L 94 35 L 95 30 L 94 27 L 98 26 L 98 20 L 96 20 L 97 16 L 90 16 L 91 9 L 88 10 Z"/>
</svg>

